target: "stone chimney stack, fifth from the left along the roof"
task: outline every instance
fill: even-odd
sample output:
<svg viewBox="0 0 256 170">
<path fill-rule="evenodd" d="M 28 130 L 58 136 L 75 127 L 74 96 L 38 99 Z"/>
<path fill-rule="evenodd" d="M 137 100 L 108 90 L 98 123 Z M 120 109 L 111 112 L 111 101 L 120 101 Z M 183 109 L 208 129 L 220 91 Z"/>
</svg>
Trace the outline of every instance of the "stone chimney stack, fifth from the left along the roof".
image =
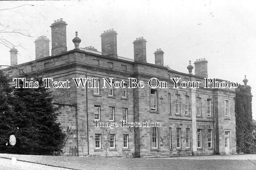
<svg viewBox="0 0 256 170">
<path fill-rule="evenodd" d="M 136 38 L 134 44 L 134 61 L 146 63 L 146 40 L 143 37 Z"/>
</svg>

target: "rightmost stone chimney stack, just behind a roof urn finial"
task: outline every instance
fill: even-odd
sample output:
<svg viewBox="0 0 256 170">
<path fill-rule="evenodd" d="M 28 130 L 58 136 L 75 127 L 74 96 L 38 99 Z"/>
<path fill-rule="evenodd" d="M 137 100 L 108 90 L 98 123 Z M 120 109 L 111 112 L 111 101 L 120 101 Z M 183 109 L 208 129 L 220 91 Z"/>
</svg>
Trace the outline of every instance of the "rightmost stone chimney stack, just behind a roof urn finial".
<svg viewBox="0 0 256 170">
<path fill-rule="evenodd" d="M 208 77 L 207 73 L 207 60 L 204 58 L 196 59 L 195 61 L 195 76 L 200 76 L 203 78 Z"/>
</svg>

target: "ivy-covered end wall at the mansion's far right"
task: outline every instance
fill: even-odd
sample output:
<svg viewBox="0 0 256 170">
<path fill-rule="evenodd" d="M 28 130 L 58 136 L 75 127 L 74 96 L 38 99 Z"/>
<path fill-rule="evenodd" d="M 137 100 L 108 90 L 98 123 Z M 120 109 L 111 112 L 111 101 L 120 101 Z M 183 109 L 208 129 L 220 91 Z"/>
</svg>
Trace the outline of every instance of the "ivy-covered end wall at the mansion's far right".
<svg viewBox="0 0 256 170">
<path fill-rule="evenodd" d="M 239 85 L 235 97 L 236 150 L 238 153 L 253 153 L 253 119 L 251 87 Z"/>
</svg>

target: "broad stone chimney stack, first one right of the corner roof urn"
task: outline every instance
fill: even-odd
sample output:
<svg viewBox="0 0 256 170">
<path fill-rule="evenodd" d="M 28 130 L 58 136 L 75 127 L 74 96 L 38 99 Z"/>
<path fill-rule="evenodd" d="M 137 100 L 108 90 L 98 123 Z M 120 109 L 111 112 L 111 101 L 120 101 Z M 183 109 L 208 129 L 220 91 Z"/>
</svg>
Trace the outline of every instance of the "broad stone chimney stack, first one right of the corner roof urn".
<svg viewBox="0 0 256 170">
<path fill-rule="evenodd" d="M 101 53 L 103 56 L 110 56 L 117 58 L 117 33 L 114 29 L 104 31 L 101 37 Z"/>
</svg>

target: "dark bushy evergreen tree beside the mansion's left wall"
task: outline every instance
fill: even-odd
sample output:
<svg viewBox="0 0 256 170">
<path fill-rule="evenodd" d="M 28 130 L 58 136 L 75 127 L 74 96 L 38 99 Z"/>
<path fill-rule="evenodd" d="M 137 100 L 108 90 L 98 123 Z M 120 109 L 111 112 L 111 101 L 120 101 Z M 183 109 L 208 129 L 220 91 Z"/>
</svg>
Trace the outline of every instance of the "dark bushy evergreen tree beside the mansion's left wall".
<svg viewBox="0 0 256 170">
<path fill-rule="evenodd" d="M 40 78 L 37 89 L 14 89 L 0 70 L 0 152 L 52 155 L 65 145 L 57 108 Z M 21 85 L 22 86 L 22 85 Z M 16 137 L 14 146 L 9 137 Z"/>
</svg>

